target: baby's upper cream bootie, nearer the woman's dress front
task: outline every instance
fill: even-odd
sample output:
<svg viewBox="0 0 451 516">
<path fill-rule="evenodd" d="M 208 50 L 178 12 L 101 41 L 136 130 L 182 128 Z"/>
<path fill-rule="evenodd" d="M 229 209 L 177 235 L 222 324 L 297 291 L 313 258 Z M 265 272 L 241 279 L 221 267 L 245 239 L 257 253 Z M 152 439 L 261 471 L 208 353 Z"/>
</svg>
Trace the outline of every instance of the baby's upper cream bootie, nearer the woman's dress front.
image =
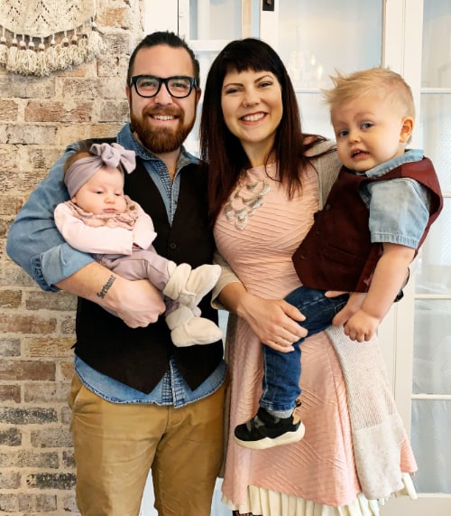
<svg viewBox="0 0 451 516">
<path fill-rule="evenodd" d="M 201 265 L 191 269 L 188 263 L 177 265 L 169 262 L 169 280 L 163 290 L 164 296 L 178 301 L 179 305 L 194 308 L 203 296 L 215 285 L 221 274 L 221 267 L 218 265 Z"/>
</svg>

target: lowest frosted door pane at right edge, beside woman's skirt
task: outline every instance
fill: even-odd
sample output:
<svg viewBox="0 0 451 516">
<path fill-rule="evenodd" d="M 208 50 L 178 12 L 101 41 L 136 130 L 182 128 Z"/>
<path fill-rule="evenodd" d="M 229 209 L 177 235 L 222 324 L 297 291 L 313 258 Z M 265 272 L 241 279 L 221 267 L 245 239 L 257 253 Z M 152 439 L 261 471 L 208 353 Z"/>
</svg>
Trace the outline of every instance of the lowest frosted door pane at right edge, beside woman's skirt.
<svg viewBox="0 0 451 516">
<path fill-rule="evenodd" d="M 413 482 L 419 493 L 451 493 L 451 401 L 414 399 L 411 443 L 419 472 Z"/>
</svg>

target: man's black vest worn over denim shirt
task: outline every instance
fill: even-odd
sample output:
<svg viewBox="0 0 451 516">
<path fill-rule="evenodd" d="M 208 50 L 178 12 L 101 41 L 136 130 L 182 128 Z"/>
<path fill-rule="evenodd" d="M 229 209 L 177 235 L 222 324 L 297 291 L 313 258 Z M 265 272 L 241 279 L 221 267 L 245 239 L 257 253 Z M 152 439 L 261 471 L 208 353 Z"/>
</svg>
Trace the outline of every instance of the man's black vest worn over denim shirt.
<svg viewBox="0 0 451 516">
<path fill-rule="evenodd" d="M 114 140 L 96 140 L 97 143 Z M 196 164 L 180 171 L 177 210 L 172 221 L 152 178 L 140 158 L 136 169 L 125 174 L 124 192 L 138 202 L 153 220 L 158 236 L 153 241 L 157 252 L 176 263 L 192 267 L 211 263 L 215 242 L 207 220 L 207 176 Z M 202 316 L 217 323 L 210 306 L 211 296 L 199 304 Z M 173 357 L 183 378 L 196 389 L 215 371 L 223 357 L 222 342 L 185 348 L 174 346 L 170 330 L 161 316 L 146 328 L 130 328 L 119 317 L 108 314 L 99 305 L 78 298 L 77 342 L 75 352 L 88 365 L 133 389 L 151 390 L 168 371 Z"/>
</svg>

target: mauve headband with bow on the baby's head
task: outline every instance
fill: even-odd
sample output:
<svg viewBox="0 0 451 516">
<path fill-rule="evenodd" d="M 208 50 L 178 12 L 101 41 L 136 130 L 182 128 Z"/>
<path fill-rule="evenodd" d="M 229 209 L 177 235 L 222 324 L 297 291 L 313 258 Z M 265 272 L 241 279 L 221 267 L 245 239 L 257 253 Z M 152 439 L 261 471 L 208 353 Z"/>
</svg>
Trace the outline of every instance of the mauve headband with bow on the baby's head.
<svg viewBox="0 0 451 516">
<path fill-rule="evenodd" d="M 119 144 L 93 144 L 89 152 L 92 155 L 75 161 L 64 174 L 70 198 L 103 166 L 120 168 L 127 174 L 133 172 L 136 166 L 134 152 L 127 151 Z"/>
</svg>

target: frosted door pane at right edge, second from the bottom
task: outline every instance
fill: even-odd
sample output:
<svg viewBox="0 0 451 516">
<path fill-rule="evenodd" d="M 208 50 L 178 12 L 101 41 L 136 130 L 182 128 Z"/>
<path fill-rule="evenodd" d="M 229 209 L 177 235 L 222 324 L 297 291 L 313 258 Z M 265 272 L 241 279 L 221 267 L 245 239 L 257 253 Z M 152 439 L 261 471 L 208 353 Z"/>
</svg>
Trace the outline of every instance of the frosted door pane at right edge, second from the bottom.
<svg viewBox="0 0 451 516">
<path fill-rule="evenodd" d="M 413 392 L 451 394 L 451 299 L 417 299 Z"/>
</svg>

